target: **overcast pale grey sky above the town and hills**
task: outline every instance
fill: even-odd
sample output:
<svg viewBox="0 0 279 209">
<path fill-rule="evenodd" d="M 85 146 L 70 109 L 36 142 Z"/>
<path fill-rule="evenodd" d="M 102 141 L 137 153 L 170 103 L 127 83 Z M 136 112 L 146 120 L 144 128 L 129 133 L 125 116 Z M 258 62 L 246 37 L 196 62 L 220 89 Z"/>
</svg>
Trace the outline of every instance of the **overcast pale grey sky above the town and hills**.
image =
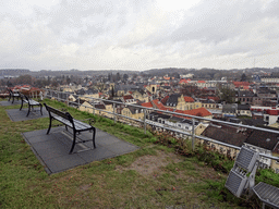
<svg viewBox="0 0 279 209">
<path fill-rule="evenodd" d="M 0 69 L 279 66 L 278 0 L 0 0 Z"/>
</svg>

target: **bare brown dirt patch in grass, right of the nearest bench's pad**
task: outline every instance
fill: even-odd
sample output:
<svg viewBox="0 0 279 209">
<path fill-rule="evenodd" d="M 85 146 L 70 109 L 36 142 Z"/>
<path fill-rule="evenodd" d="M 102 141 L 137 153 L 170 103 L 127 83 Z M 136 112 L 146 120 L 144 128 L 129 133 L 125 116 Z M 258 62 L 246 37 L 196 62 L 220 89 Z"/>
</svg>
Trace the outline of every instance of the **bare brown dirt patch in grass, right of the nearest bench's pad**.
<svg viewBox="0 0 279 209">
<path fill-rule="evenodd" d="M 168 165 L 169 163 L 178 163 L 182 161 L 182 157 L 165 151 L 157 151 L 157 156 L 143 156 L 137 158 L 130 167 L 117 165 L 116 170 L 128 171 L 135 170 L 141 175 L 150 175 L 155 172 L 158 172 L 160 168 Z"/>
</svg>

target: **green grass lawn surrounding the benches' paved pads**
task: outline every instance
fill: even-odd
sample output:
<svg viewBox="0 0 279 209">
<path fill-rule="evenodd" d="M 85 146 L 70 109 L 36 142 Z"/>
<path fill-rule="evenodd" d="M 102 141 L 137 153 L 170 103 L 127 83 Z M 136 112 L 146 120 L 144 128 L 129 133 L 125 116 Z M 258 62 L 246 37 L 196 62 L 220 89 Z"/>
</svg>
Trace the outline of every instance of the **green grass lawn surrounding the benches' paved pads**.
<svg viewBox="0 0 279 209">
<path fill-rule="evenodd" d="M 56 108 L 64 104 L 45 100 Z M 48 175 L 21 133 L 47 128 L 49 119 L 12 122 L 0 106 L 0 208 L 239 208 L 217 192 L 226 174 L 195 157 L 154 144 L 143 130 L 114 124 L 68 108 L 76 119 L 95 118 L 95 126 L 141 149 Z"/>
</svg>

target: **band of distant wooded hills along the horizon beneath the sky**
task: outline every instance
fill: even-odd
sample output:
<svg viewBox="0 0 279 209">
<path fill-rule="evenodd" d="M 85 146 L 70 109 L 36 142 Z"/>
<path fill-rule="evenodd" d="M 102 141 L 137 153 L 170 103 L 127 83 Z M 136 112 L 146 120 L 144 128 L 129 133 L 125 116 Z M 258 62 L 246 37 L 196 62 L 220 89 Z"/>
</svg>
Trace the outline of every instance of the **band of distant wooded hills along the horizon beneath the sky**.
<svg viewBox="0 0 279 209">
<path fill-rule="evenodd" d="M 178 76 L 182 74 L 194 74 L 194 79 L 220 79 L 221 77 L 227 77 L 228 79 L 238 79 L 243 73 L 247 76 L 258 74 L 266 75 L 279 74 L 279 67 L 252 67 L 252 69 L 231 69 L 231 70 L 216 70 L 216 69 L 178 69 L 178 67 L 166 67 L 166 69 L 150 69 L 146 71 L 131 71 L 131 70 L 40 70 L 40 71 L 29 71 L 27 69 L 0 69 L 0 76 L 20 76 L 24 74 L 29 74 L 34 77 L 40 76 L 59 76 L 59 75 L 74 75 L 74 76 L 97 76 L 97 75 L 108 75 L 108 74 L 148 74 L 150 76 L 163 76 L 166 74 L 170 76 Z M 175 75 L 177 74 L 177 75 Z"/>
</svg>

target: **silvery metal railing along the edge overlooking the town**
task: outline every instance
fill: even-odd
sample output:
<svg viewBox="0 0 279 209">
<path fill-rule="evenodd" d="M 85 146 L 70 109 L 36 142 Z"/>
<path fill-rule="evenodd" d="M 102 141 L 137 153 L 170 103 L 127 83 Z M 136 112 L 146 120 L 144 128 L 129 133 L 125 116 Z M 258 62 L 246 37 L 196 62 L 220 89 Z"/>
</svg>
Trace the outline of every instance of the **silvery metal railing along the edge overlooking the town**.
<svg viewBox="0 0 279 209">
<path fill-rule="evenodd" d="M 195 134 L 195 128 L 194 128 L 195 120 L 216 122 L 216 123 L 219 123 L 219 124 L 226 124 L 226 125 L 231 125 L 231 126 L 236 126 L 236 127 L 243 127 L 243 128 L 250 128 L 250 130 L 258 130 L 258 131 L 263 131 L 263 132 L 269 132 L 269 133 L 279 134 L 279 130 L 276 131 L 276 130 L 268 130 L 268 128 L 263 128 L 263 127 L 255 127 L 255 126 L 243 125 L 243 124 L 239 124 L 239 123 L 231 123 L 231 122 L 227 122 L 227 121 L 220 121 L 220 120 L 216 120 L 216 119 L 208 119 L 208 118 L 202 118 L 202 116 L 195 116 L 195 115 L 190 115 L 190 114 L 178 113 L 178 112 L 174 112 L 174 111 L 172 112 L 172 111 L 159 110 L 159 109 L 155 109 L 155 108 L 146 108 L 146 107 L 143 107 L 143 106 L 137 106 L 137 104 L 123 103 L 123 102 L 113 101 L 113 100 L 107 100 L 107 99 L 101 99 L 101 98 L 93 98 L 93 97 L 75 95 L 75 96 L 77 96 L 77 100 L 75 102 L 73 102 L 73 101 L 69 101 L 69 96 L 72 95 L 70 93 L 62 93 L 62 91 L 57 91 L 57 90 L 52 90 L 52 89 L 44 89 L 44 90 L 45 90 L 44 97 L 54 98 L 58 101 L 66 102 L 68 106 L 69 106 L 69 103 L 75 104 L 78 109 L 80 109 L 80 107 L 84 107 L 86 109 L 87 108 L 88 109 L 93 109 L 93 114 L 95 114 L 96 111 L 106 112 L 106 113 L 112 115 L 111 119 L 114 122 L 117 122 L 117 118 L 118 119 L 121 118 L 121 119 L 128 119 L 130 121 L 134 121 L 134 122 L 137 122 L 137 123 L 142 123 L 145 133 L 146 133 L 146 128 L 147 128 L 147 124 L 148 124 L 148 125 L 153 125 L 153 126 L 156 126 L 156 127 L 160 127 L 162 130 L 171 131 L 173 133 L 179 133 L 179 134 L 187 135 L 187 136 L 190 136 L 192 138 L 192 149 L 193 150 L 195 148 L 195 138 L 207 140 L 207 142 L 210 142 L 210 143 L 215 143 L 215 144 L 218 144 L 218 145 L 221 145 L 221 146 L 226 146 L 226 147 L 229 147 L 229 148 L 233 148 L 233 149 L 236 149 L 236 150 L 241 149 L 241 147 L 238 147 L 238 146 L 234 146 L 234 145 L 230 145 L 230 144 L 227 144 L 227 143 L 215 140 L 213 138 L 208 138 L 208 137 L 205 137 L 205 136 L 196 135 Z M 62 96 L 63 96 L 63 98 L 62 98 Z M 104 109 L 97 109 L 94 106 L 89 107 L 89 106 L 81 104 L 80 97 L 88 98 L 88 100 L 90 100 L 90 101 L 107 101 L 107 102 L 110 102 L 110 103 L 112 103 L 113 112 L 110 112 L 110 111 L 107 111 L 107 110 L 104 110 Z M 144 113 L 143 120 L 133 119 L 133 118 L 130 118 L 130 116 L 126 116 L 126 115 L 118 114 L 116 112 L 116 104 L 120 104 L 120 106 L 123 106 L 123 107 L 131 106 L 131 107 L 135 107 L 135 108 L 142 109 L 143 113 Z M 150 122 L 148 122 L 146 120 L 147 111 L 156 111 L 156 112 L 159 111 L 159 112 L 162 112 L 162 113 L 166 113 L 166 114 L 172 114 L 172 115 L 174 114 L 174 115 L 191 118 L 192 119 L 192 131 L 191 131 L 191 133 L 189 133 L 189 132 L 185 132 L 183 130 L 178 130 L 178 128 L 170 127 L 170 126 L 167 126 L 167 125 L 159 125 L 159 124 L 150 123 Z M 268 158 L 268 159 L 272 159 L 272 160 L 279 161 L 279 157 L 275 157 L 275 156 L 270 156 L 270 155 L 265 155 L 265 153 L 259 153 L 259 156 L 264 157 L 264 158 Z"/>
</svg>

